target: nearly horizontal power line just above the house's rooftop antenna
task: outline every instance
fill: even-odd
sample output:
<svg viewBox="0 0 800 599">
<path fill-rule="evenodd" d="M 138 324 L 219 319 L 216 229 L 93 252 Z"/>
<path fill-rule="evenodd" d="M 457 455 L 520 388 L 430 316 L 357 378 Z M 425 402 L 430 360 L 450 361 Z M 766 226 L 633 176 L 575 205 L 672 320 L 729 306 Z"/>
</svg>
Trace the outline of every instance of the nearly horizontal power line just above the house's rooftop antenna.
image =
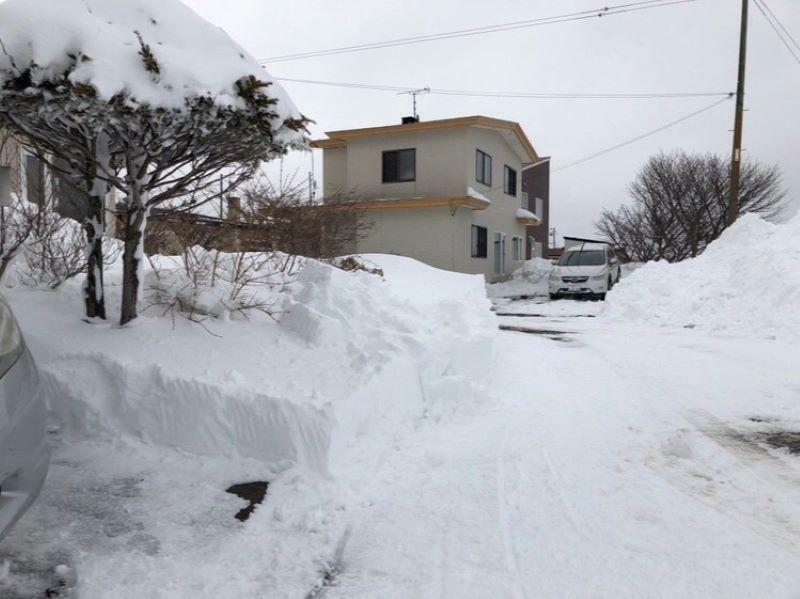
<svg viewBox="0 0 800 599">
<path fill-rule="evenodd" d="M 275 77 L 276 81 L 289 83 L 304 83 L 310 85 L 324 85 L 330 87 L 343 87 L 349 89 L 363 89 L 393 93 L 410 93 L 419 86 L 403 85 L 373 85 L 368 83 L 352 83 L 342 81 L 318 81 L 315 79 L 295 79 L 291 77 Z M 728 97 L 730 92 L 679 92 L 679 93 L 536 93 L 536 92 L 493 92 L 460 89 L 425 88 L 429 94 L 440 96 L 467 96 L 475 98 L 531 98 L 531 99 L 611 99 L 611 100 L 637 100 L 650 98 L 701 98 L 701 97 Z"/>
</svg>

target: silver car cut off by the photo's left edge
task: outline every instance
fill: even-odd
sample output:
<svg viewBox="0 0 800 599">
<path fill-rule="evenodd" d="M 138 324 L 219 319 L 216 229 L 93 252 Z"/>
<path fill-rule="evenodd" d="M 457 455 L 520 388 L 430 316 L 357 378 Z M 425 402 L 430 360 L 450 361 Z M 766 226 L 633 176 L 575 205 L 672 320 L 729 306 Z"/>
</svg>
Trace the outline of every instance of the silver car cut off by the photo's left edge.
<svg viewBox="0 0 800 599">
<path fill-rule="evenodd" d="M 0 540 L 39 495 L 50 455 L 39 373 L 0 297 Z"/>
</svg>

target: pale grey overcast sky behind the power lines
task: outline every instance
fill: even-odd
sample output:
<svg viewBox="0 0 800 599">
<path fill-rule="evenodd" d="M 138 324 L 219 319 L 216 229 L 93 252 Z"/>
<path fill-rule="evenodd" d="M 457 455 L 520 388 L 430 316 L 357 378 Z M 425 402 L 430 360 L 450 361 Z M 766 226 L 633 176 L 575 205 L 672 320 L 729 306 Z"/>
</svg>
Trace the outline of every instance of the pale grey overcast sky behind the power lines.
<svg viewBox="0 0 800 599">
<path fill-rule="evenodd" d="M 185 0 L 257 58 L 547 17 L 606 0 Z M 619 0 L 617 3 L 622 3 Z M 800 41 L 800 1 L 765 0 Z M 268 65 L 277 77 L 493 92 L 725 92 L 736 88 L 739 0 L 697 0 L 587 21 Z M 800 196 L 800 64 L 751 5 L 746 156 L 783 169 Z M 324 131 L 394 124 L 408 96 L 284 84 Z M 553 168 L 699 110 L 714 98 L 539 100 L 423 96 L 423 120 L 483 114 L 519 122 Z M 729 155 L 734 103 L 553 174 L 551 225 L 591 235 L 603 208 L 627 201 L 647 158 L 683 149 Z M 317 160 L 317 171 L 320 169 Z M 307 156 L 289 163 L 307 171 Z"/>
</svg>

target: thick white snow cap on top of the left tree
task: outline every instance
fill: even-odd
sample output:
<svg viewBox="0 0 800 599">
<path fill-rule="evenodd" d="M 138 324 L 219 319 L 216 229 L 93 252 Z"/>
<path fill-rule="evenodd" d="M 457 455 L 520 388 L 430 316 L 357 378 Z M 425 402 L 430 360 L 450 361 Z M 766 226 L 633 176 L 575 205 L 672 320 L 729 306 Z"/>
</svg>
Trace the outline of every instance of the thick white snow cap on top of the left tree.
<svg viewBox="0 0 800 599">
<path fill-rule="evenodd" d="M 100 98 L 125 93 L 177 109 L 197 96 L 242 106 L 235 83 L 253 75 L 272 83 L 265 93 L 278 100 L 277 122 L 299 116 L 250 54 L 179 0 L 6 0 L 0 40 L 0 84 L 28 69 L 34 83 L 58 79 L 77 60 L 70 81 L 91 85 Z M 143 45 L 158 73 L 144 68 Z"/>
</svg>

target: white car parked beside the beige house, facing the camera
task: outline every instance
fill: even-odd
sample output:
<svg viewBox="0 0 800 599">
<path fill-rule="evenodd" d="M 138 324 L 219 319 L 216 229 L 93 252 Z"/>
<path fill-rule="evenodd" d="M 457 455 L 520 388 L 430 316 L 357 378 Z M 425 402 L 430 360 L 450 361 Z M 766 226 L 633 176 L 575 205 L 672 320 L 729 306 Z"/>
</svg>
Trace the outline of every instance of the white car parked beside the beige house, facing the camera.
<svg viewBox="0 0 800 599">
<path fill-rule="evenodd" d="M 589 297 L 605 299 L 621 277 L 619 260 L 605 243 L 584 243 L 564 250 L 550 273 L 550 299 Z"/>
</svg>

